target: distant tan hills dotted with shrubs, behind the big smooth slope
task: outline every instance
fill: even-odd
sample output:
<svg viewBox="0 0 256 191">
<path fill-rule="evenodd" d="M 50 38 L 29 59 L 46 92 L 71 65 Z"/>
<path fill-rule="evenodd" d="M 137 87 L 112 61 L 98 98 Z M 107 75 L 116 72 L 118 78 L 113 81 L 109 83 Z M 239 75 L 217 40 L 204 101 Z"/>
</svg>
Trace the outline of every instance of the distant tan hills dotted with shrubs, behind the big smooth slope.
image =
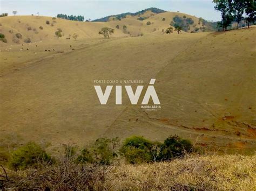
<svg viewBox="0 0 256 191">
<path fill-rule="evenodd" d="M 170 24 L 174 25 L 173 18 L 190 18 L 193 24 L 188 24 L 186 32 L 201 32 L 210 30 L 199 18 L 179 12 L 154 13 L 150 10 L 140 15 L 127 15 L 121 20 L 109 18 L 109 22 L 77 22 L 61 18 L 43 16 L 10 16 L 0 18 L 0 33 L 4 34 L 7 43 L 0 41 L 0 47 L 6 45 L 59 41 L 72 41 L 74 34 L 77 40 L 87 38 L 101 38 L 98 32 L 103 27 L 114 29 L 112 37 L 137 37 L 143 34 L 164 34 Z M 139 20 L 143 18 L 143 20 Z M 48 22 L 48 24 L 47 24 Z M 150 25 L 147 24 L 150 22 Z M 183 21 L 184 22 L 184 21 Z M 196 29 L 197 28 L 197 29 Z M 61 30 L 61 37 L 56 32 Z"/>
</svg>

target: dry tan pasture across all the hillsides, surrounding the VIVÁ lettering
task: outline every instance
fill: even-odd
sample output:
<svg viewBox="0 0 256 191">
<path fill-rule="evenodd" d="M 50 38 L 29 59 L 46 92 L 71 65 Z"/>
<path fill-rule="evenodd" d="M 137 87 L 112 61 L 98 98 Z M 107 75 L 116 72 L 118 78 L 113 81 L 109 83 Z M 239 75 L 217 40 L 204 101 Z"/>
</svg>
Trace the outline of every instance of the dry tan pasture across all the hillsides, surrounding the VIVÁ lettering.
<svg viewBox="0 0 256 191">
<path fill-rule="evenodd" d="M 136 18 L 122 23 L 0 18 L 0 32 L 8 39 L 0 42 L 2 146 L 29 140 L 53 147 L 84 145 L 101 136 L 164 140 L 176 134 L 203 147 L 253 153 L 256 29 L 169 35 L 160 31 L 173 16 L 163 15 L 169 20 L 162 24 L 161 14 L 149 18 L 154 19 L 150 26 Z M 99 37 L 101 27 L 117 24 L 126 25 L 131 36 L 145 34 L 130 37 L 116 29 L 110 39 Z M 58 28 L 64 37 L 55 36 Z M 11 43 L 17 32 L 32 43 Z M 73 33 L 79 34 L 77 40 L 66 39 Z M 131 107 L 125 94 L 122 107 L 113 107 L 113 94 L 108 107 L 100 107 L 93 89 L 97 79 L 147 84 L 152 77 L 161 102 L 157 111 Z"/>
</svg>

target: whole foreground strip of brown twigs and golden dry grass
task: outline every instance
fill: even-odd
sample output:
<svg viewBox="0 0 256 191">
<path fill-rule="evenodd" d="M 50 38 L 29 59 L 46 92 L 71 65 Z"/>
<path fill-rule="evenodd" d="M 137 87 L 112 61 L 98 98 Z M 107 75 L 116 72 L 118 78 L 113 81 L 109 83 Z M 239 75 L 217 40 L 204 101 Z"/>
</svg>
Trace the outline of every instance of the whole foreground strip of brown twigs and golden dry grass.
<svg viewBox="0 0 256 191">
<path fill-rule="evenodd" d="M 255 190 L 256 155 L 188 155 L 142 165 L 83 166 L 63 162 L 12 173 L 12 189 Z"/>
</svg>

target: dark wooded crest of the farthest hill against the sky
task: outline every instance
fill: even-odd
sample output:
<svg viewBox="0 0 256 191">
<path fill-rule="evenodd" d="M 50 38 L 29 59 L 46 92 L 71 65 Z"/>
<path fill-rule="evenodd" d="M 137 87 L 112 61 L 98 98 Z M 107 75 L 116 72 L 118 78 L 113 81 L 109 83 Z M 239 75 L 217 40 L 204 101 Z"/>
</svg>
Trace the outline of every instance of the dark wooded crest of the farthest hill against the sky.
<svg viewBox="0 0 256 191">
<path fill-rule="evenodd" d="M 110 16 L 103 17 L 103 18 L 100 18 L 100 19 L 92 20 L 92 22 L 107 22 L 110 17 L 116 17 L 117 19 L 122 19 L 122 18 L 125 18 L 127 15 L 136 16 L 136 15 L 143 14 L 146 11 L 151 11 L 151 12 L 157 13 L 157 14 L 162 13 L 162 12 L 167 12 L 165 10 L 158 9 L 158 8 L 149 8 L 149 9 L 144 9 L 144 10 L 134 12 L 134 13 L 126 12 L 126 13 L 122 13 L 122 14 L 119 14 L 119 15 L 110 15 Z"/>
</svg>

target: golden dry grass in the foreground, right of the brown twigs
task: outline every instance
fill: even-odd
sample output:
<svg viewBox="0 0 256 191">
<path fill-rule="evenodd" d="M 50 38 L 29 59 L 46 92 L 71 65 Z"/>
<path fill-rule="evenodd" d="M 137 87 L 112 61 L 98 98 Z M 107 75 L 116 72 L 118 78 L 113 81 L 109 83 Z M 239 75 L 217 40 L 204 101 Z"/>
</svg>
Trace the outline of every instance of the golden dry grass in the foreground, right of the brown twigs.
<svg viewBox="0 0 256 191">
<path fill-rule="evenodd" d="M 255 190 L 256 156 L 213 155 L 116 166 L 106 187 L 159 190 Z"/>
</svg>

